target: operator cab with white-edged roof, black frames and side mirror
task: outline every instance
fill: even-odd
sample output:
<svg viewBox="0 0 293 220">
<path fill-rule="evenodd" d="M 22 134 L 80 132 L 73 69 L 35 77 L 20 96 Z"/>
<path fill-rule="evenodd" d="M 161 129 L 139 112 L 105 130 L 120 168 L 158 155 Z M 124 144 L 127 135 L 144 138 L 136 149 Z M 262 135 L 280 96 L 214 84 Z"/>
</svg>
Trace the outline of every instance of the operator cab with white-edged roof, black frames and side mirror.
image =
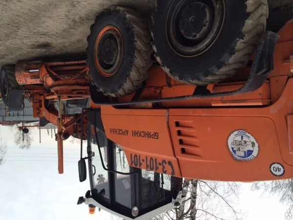
<svg viewBox="0 0 293 220">
<path fill-rule="evenodd" d="M 180 204 L 182 178 L 130 167 L 123 147 L 106 138 L 97 120 L 88 121 L 85 159 L 90 190 L 78 204 L 103 209 L 125 220 L 151 219 Z M 83 162 L 79 162 L 80 181 L 86 178 Z"/>
</svg>

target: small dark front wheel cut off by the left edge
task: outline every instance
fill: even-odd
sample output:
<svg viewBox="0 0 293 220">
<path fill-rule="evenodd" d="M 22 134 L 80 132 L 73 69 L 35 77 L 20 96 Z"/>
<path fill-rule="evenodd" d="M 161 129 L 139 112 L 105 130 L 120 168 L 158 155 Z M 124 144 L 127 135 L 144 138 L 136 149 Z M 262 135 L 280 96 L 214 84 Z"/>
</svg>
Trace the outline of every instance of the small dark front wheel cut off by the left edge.
<svg viewBox="0 0 293 220">
<path fill-rule="evenodd" d="M 15 78 L 15 66 L 2 66 L 0 70 L 0 91 L 5 106 L 9 105 L 9 93 L 16 89 L 21 89 L 21 86 Z"/>
</svg>

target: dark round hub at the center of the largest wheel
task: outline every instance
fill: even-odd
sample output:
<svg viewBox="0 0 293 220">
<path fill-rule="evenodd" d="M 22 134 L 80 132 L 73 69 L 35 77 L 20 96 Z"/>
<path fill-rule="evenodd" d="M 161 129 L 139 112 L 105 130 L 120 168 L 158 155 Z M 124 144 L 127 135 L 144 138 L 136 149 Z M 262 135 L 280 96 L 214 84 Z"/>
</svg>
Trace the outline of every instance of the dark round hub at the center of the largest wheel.
<svg viewBox="0 0 293 220">
<path fill-rule="evenodd" d="M 200 41 L 209 34 L 212 25 L 212 10 L 203 2 L 188 4 L 181 13 L 181 34 L 189 40 Z"/>
</svg>

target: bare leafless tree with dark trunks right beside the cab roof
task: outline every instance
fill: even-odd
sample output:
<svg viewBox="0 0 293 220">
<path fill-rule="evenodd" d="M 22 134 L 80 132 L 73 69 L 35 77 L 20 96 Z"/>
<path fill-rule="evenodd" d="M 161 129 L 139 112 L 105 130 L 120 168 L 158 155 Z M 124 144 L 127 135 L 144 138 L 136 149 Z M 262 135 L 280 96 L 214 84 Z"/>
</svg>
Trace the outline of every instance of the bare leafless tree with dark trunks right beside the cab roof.
<svg viewBox="0 0 293 220">
<path fill-rule="evenodd" d="M 236 207 L 240 184 L 192 179 L 184 180 L 187 199 L 176 209 L 155 217 L 155 220 L 240 220 Z M 225 215 L 224 215 L 225 214 Z"/>
</svg>

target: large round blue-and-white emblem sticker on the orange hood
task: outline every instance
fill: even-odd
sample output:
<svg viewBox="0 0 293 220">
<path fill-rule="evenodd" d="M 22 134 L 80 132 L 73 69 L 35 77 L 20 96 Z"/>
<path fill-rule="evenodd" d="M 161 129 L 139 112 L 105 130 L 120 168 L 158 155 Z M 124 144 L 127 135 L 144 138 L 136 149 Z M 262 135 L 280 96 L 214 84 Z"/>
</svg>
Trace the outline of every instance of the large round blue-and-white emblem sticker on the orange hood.
<svg viewBox="0 0 293 220">
<path fill-rule="evenodd" d="M 229 150 L 236 160 L 253 160 L 258 154 L 258 143 L 244 130 L 235 131 L 228 138 Z"/>
</svg>

